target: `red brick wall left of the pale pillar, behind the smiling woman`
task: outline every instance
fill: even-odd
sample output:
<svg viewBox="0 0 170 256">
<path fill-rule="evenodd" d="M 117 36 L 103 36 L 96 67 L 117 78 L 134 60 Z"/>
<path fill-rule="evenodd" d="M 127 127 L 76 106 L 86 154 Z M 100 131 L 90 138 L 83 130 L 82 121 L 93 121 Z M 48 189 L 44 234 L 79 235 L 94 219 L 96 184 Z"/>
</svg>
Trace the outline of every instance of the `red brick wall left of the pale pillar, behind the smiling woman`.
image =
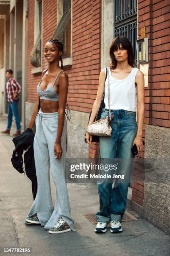
<svg viewBox="0 0 170 256">
<path fill-rule="evenodd" d="M 57 1 L 42 5 L 42 53 L 57 23 Z M 28 1 L 28 56 L 34 43 L 34 0 Z M 42 54 L 42 69 L 47 62 Z M 40 74 L 31 74 L 28 58 L 28 101 L 35 102 Z M 95 100 L 100 74 L 100 0 L 72 1 L 72 67 L 65 68 L 69 76 L 67 101 L 70 109 L 89 113 Z"/>
</svg>

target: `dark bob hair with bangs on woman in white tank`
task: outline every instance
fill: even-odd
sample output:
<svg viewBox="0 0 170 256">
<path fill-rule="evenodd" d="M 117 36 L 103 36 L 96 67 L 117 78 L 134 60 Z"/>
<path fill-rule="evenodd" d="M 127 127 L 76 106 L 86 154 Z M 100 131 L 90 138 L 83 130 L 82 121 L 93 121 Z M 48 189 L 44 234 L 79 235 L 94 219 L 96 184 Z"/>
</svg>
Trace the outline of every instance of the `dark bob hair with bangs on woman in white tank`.
<svg viewBox="0 0 170 256">
<path fill-rule="evenodd" d="M 115 59 L 113 52 L 117 51 L 117 49 L 120 49 L 120 44 L 124 49 L 128 51 L 128 64 L 134 67 L 135 56 L 133 53 L 132 44 L 130 43 L 129 39 L 126 38 L 125 36 L 117 36 L 116 38 L 113 39 L 112 44 L 110 46 L 110 51 L 109 51 L 110 58 L 111 58 L 110 69 L 115 69 L 117 66 L 117 60 Z"/>
</svg>

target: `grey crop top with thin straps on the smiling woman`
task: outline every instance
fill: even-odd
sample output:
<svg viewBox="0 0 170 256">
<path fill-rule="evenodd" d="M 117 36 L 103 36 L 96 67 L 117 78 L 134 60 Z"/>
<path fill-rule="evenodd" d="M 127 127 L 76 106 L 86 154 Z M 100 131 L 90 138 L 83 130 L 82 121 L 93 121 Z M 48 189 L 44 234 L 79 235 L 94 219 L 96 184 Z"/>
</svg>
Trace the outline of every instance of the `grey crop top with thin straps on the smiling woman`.
<svg viewBox="0 0 170 256">
<path fill-rule="evenodd" d="M 48 70 L 48 69 L 47 69 L 47 70 Z M 45 73 L 47 72 L 47 70 L 45 71 Z M 59 75 L 62 71 L 64 72 L 64 70 L 61 70 L 61 71 L 57 74 L 57 77 L 58 77 L 58 75 Z M 44 73 L 44 75 L 45 75 L 45 73 Z M 44 75 L 43 75 L 43 77 L 44 77 Z M 43 78 L 43 77 L 42 77 L 42 78 Z M 57 80 L 57 77 L 55 78 L 54 83 L 53 83 L 50 87 L 48 87 L 47 89 L 45 89 L 45 90 L 43 90 L 43 91 L 40 89 L 40 83 L 41 83 L 41 81 L 42 81 L 42 79 L 41 79 L 41 81 L 40 81 L 39 84 L 37 85 L 37 92 L 38 92 L 38 94 L 40 95 L 40 99 L 42 99 L 42 100 L 54 100 L 54 101 L 58 101 L 58 99 L 59 99 L 59 94 L 54 91 L 54 84 L 55 84 L 55 82 L 56 82 L 56 80 Z"/>
</svg>

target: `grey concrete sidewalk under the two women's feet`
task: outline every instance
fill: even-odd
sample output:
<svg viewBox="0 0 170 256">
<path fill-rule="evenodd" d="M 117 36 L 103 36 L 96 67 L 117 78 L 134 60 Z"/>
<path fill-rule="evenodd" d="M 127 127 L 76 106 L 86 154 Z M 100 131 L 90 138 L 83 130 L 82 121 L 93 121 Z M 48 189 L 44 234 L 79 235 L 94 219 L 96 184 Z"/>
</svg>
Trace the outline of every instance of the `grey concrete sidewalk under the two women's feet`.
<svg viewBox="0 0 170 256">
<path fill-rule="evenodd" d="M 0 131 L 5 130 L 6 124 L 7 119 L 0 118 Z M 108 229 L 96 234 L 95 225 L 84 216 L 99 208 L 93 184 L 67 184 L 76 232 L 52 235 L 40 225 L 26 226 L 24 219 L 33 201 L 31 182 L 13 168 L 10 161 L 13 149 L 12 138 L 0 134 L 0 255 L 11 254 L 3 253 L 3 248 L 23 247 L 32 249 L 25 255 L 33 256 L 170 255 L 170 237 L 142 218 L 123 222 L 122 233 L 112 234 Z M 51 187 L 54 202 L 52 179 Z"/>
</svg>

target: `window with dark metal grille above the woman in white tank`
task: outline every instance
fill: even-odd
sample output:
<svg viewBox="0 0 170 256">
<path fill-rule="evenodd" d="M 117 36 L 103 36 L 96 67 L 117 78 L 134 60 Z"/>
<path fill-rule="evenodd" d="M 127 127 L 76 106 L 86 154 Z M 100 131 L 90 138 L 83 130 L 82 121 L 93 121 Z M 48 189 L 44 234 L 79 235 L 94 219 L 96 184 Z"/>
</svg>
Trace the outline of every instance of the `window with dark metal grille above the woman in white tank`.
<svg viewBox="0 0 170 256">
<path fill-rule="evenodd" d="M 136 63 L 137 0 L 114 0 L 114 37 L 127 37 L 132 46 Z"/>
</svg>

